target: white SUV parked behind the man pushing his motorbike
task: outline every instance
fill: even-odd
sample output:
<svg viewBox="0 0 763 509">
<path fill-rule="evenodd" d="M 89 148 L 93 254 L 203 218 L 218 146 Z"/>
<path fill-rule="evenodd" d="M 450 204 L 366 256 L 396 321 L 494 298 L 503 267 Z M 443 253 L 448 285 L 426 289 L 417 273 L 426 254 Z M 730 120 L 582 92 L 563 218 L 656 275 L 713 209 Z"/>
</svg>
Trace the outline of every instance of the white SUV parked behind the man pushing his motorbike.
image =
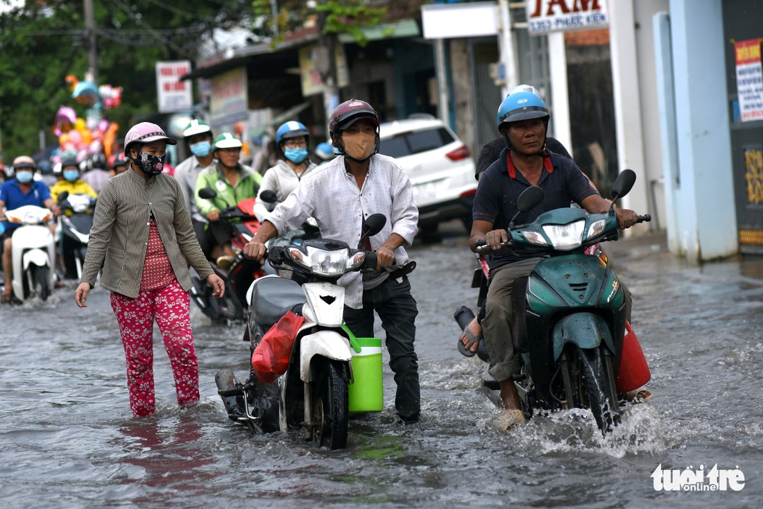
<svg viewBox="0 0 763 509">
<path fill-rule="evenodd" d="M 420 236 L 436 234 L 439 222 L 456 218 L 471 230 L 475 163 L 456 134 L 429 114 L 385 122 L 379 130 L 379 153 L 397 159 L 414 185 Z"/>
</svg>

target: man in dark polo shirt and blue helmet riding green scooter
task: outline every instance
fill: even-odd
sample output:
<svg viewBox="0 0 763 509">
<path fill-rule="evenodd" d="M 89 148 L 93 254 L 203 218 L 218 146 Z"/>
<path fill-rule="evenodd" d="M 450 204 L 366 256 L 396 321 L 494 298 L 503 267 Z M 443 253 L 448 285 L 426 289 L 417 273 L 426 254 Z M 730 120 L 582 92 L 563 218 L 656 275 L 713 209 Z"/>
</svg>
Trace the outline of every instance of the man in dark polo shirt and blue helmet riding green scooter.
<svg viewBox="0 0 763 509">
<path fill-rule="evenodd" d="M 529 275 L 540 260 L 539 255 L 501 250 L 509 240 L 506 228 L 518 211 L 517 198 L 531 185 L 538 185 L 544 191 L 538 206 L 517 216 L 515 221 L 520 224 L 534 221 L 543 212 L 569 207 L 571 201 L 593 214 L 610 208 L 610 202 L 591 187 L 574 161 L 546 150 L 550 118 L 546 103 L 532 92 L 515 92 L 501 102 L 497 126 L 506 148 L 481 177 L 472 211 L 474 222 L 469 246 L 476 252 L 478 241 L 484 240 L 493 250 L 488 259 L 490 285 L 482 326 L 491 359 L 490 374 L 501 386 L 505 409 L 501 424 L 506 430 L 524 421 L 512 379 L 520 367 L 512 338 L 513 282 Z M 616 213 L 621 228 L 636 224 L 636 212 L 617 209 Z"/>
</svg>

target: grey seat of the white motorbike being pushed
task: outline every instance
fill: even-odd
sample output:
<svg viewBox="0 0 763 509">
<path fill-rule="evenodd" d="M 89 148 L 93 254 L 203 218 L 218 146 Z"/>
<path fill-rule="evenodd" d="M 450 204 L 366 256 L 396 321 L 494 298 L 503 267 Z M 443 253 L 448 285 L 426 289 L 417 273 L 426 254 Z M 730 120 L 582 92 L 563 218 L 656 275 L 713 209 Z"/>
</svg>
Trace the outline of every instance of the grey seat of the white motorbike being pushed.
<svg viewBox="0 0 763 509">
<path fill-rule="evenodd" d="M 268 330 L 287 311 L 304 302 L 304 292 L 297 282 L 266 276 L 256 280 L 249 309 L 256 323 Z"/>
</svg>

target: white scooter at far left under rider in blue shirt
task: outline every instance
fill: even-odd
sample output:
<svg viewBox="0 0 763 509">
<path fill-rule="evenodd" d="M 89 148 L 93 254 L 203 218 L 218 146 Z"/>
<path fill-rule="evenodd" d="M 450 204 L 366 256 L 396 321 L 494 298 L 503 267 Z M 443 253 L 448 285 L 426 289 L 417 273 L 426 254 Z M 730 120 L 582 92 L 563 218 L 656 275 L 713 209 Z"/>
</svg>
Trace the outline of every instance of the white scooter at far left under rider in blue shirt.
<svg viewBox="0 0 763 509">
<path fill-rule="evenodd" d="M 11 224 L 21 224 L 11 237 L 13 294 L 21 302 L 33 294 L 46 301 L 55 278 L 53 260 L 56 259 L 56 243 L 48 227 L 53 214 L 47 208 L 24 205 L 5 211 L 5 217 Z M 8 285 L 8 282 L 5 284 Z"/>
</svg>

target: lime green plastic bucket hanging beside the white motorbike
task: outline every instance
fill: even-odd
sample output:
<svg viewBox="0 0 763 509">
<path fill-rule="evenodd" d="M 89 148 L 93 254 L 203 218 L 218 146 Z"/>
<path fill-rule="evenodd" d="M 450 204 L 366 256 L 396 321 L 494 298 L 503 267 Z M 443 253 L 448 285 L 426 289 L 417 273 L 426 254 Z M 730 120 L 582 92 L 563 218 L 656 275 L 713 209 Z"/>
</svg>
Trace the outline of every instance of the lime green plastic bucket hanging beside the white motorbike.
<svg viewBox="0 0 763 509">
<path fill-rule="evenodd" d="M 349 411 L 381 412 L 384 409 L 384 387 L 381 378 L 381 340 L 378 337 L 356 337 L 360 352 L 353 352 L 353 383 L 349 385 Z"/>
</svg>

